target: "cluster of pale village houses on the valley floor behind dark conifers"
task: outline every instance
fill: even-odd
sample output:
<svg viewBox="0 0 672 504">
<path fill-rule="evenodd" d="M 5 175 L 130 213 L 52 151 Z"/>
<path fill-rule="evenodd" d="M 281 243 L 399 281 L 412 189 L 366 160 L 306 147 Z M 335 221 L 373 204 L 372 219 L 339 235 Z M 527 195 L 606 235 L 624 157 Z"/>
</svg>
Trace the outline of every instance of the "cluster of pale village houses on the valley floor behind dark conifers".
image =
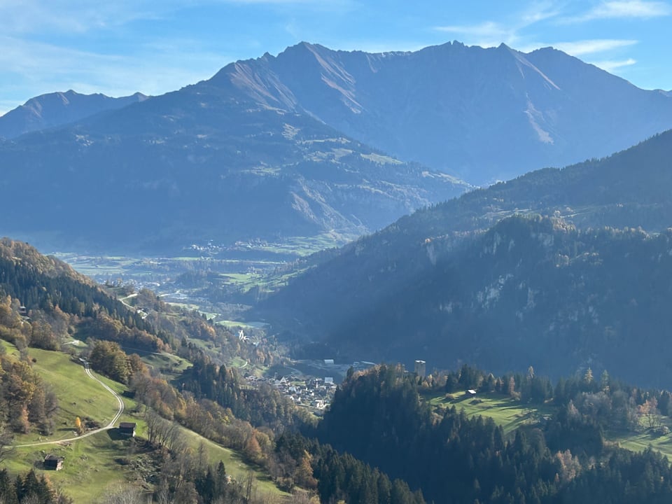
<svg viewBox="0 0 672 504">
<path fill-rule="evenodd" d="M 250 375 L 246 380 L 251 385 L 266 381 L 293 400 L 296 405 L 314 410 L 321 410 L 330 405 L 336 392 L 336 384 L 332 377 L 298 377 L 290 374 L 280 378 L 258 378 Z"/>
</svg>

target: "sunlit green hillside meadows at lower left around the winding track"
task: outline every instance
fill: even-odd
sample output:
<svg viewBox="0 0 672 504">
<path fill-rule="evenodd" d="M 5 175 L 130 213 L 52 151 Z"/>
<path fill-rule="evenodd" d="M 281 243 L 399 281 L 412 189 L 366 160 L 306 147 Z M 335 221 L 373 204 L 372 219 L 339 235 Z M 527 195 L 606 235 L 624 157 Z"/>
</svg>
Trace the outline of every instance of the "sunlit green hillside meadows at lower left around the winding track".
<svg viewBox="0 0 672 504">
<path fill-rule="evenodd" d="M 0 344 L 5 347 L 8 355 L 17 353 L 13 345 L 6 342 Z M 48 438 L 38 433 L 18 435 L 15 444 L 76 437 L 73 428 L 76 416 L 80 416 L 83 420 L 91 419 L 101 426 L 106 426 L 111 421 L 118 408 L 116 398 L 104 390 L 97 381 L 87 377 L 82 365 L 60 352 L 30 349 L 29 356 L 36 360 L 33 364 L 34 370 L 57 394 L 59 411 L 55 419 L 54 435 Z M 96 377 L 117 393 L 124 391 L 123 384 L 98 374 Z M 145 423 L 141 415 L 136 412 L 137 404 L 129 398 L 123 400 L 125 412 L 119 420 L 137 423 L 138 435 L 141 437 Z M 252 472 L 258 493 L 283 495 L 265 473 L 244 463 L 235 451 L 221 447 L 190 430 L 182 428 L 182 431 L 183 438 L 193 451 L 198 451 L 200 446 L 204 448 L 209 463 L 216 464 L 223 461 L 228 474 L 235 479 L 244 479 Z M 13 474 L 25 472 L 30 468 L 41 470 L 41 461 L 46 454 L 65 458 L 64 469 L 49 471 L 48 475 L 52 482 L 61 486 L 74 499 L 76 504 L 92 503 L 111 487 L 129 482 L 149 489 L 150 485 L 146 479 L 154 480 L 158 477 L 152 472 L 150 454 L 144 453 L 144 444 L 141 441 L 119 439 L 114 430 L 104 430 L 89 437 L 58 444 L 16 447 L 10 458 L 3 462 L 3 466 Z"/>
</svg>

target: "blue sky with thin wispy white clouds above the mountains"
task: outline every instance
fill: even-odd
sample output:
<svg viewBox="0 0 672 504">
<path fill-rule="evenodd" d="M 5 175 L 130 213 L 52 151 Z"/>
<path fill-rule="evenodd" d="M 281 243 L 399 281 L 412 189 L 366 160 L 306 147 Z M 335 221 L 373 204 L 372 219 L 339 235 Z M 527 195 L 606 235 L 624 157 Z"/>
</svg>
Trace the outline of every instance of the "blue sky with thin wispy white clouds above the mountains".
<svg viewBox="0 0 672 504">
<path fill-rule="evenodd" d="M 0 114 L 69 89 L 162 94 L 300 41 L 418 50 L 553 45 L 672 90 L 672 0 L 0 0 Z"/>
</svg>

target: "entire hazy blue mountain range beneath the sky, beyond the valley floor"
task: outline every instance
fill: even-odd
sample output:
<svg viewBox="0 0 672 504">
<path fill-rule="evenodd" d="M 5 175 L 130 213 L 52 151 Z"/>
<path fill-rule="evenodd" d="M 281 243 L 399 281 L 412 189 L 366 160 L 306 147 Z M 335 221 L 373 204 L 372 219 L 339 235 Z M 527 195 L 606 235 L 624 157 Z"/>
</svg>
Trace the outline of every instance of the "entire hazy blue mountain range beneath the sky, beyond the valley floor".
<svg viewBox="0 0 672 504">
<path fill-rule="evenodd" d="M 13 132 L 0 142 L 3 234 L 125 253 L 344 240 L 473 184 L 672 127 L 664 92 L 557 50 L 505 45 L 369 54 L 300 43 L 141 98 L 115 108 L 123 102 L 97 97 L 102 110 L 64 105 L 92 97 L 45 95 L 0 118 Z M 30 123 L 20 111 L 36 110 L 41 129 L 14 137 Z"/>
</svg>

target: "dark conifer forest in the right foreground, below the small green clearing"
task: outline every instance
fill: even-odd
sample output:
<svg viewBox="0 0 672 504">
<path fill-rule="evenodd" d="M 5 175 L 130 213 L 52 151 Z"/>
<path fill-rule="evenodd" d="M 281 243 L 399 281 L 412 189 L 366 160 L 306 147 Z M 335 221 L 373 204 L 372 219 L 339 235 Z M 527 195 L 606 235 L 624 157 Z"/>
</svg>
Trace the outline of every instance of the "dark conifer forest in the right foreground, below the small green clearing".
<svg viewBox="0 0 672 504">
<path fill-rule="evenodd" d="M 546 426 L 519 428 L 507 440 L 492 419 L 468 418 L 455 407 L 432 412 L 420 400 L 419 387 L 419 379 L 402 367 L 349 373 L 312 434 L 391 477 L 404 477 L 411 489 L 422 489 L 435 502 L 672 498 L 666 458 L 605 444 L 599 425 L 591 430 L 587 417 L 563 415 L 559 407 Z M 609 491 L 603 500 L 599 492 L 610 485 L 622 491 Z"/>
</svg>

